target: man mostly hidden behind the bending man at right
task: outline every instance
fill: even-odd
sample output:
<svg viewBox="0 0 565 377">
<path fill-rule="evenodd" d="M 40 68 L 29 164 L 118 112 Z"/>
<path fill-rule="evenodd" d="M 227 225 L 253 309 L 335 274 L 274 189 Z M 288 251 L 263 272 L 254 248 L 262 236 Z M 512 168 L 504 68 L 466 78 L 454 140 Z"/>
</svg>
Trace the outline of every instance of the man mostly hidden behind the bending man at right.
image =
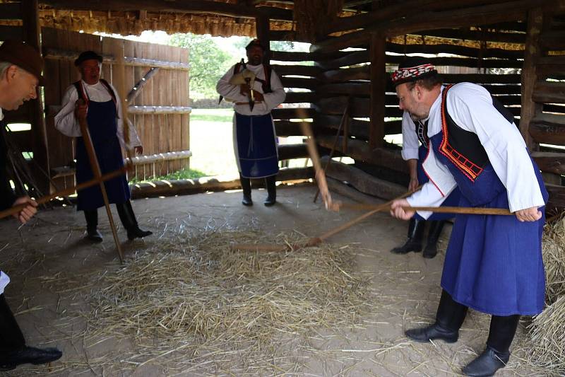
<svg viewBox="0 0 565 377">
<path fill-rule="evenodd" d="M 400 68 L 404 68 L 402 64 Z M 433 76 L 435 79 L 431 82 L 432 86 L 441 84 L 441 80 L 437 71 L 430 71 L 424 76 Z M 423 77 L 422 77 L 423 78 Z M 402 157 L 408 162 L 410 170 L 410 183 L 408 190 L 415 190 L 419 185 L 423 185 L 429 179 L 422 169 L 422 161 L 426 158 L 428 151 L 429 138 L 427 135 L 428 120 L 420 120 L 408 111 L 404 111 L 402 117 Z M 418 146 L 420 144 L 420 146 Z M 456 206 L 459 202 L 459 190 L 453 190 L 445 202 L 444 206 Z M 424 248 L 422 256 L 424 258 L 433 258 L 437 254 L 437 242 L 444 224 L 448 219 L 453 218 L 452 214 L 432 214 L 426 220 L 419 214 L 415 214 L 408 224 L 408 240 L 402 246 L 398 246 L 391 250 L 394 254 L 407 254 L 411 251 L 419 253 L 422 250 L 422 238 L 424 236 L 424 228 L 429 223 L 427 244 Z"/>
</svg>

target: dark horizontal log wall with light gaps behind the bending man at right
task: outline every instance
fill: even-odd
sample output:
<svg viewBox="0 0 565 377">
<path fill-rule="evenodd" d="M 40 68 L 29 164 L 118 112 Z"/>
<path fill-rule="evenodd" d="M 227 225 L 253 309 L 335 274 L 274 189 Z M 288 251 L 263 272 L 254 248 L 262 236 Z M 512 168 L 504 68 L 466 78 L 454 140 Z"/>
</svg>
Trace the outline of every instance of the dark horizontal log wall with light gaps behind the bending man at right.
<svg viewBox="0 0 565 377">
<path fill-rule="evenodd" d="M 424 7 L 432 3 L 431 1 L 413 2 L 415 6 Z M 447 72 L 454 71 L 452 67 L 468 67 L 470 68 L 468 71 L 475 71 L 476 73 L 472 74 L 448 73 L 442 76 L 446 83 L 470 81 L 482 84 L 512 112 L 516 124 L 519 124 L 523 102 L 522 76 L 509 72 L 512 70 L 518 72 L 518 69 L 523 68 L 528 10 L 535 9 L 536 4 L 528 1 L 501 1 L 500 4 L 481 6 L 480 2 L 468 0 L 460 4 L 462 7 L 469 6 L 468 9 L 434 12 L 443 13 L 446 17 L 442 20 L 436 15 L 428 23 L 420 22 L 413 16 L 405 21 L 394 21 L 393 18 L 400 18 L 403 15 L 398 13 L 401 11 L 400 8 L 393 5 L 390 8 L 396 9 L 397 13 L 392 11 L 387 13 L 385 8 L 384 11 L 381 9 L 365 15 L 340 18 L 335 24 L 324 25 L 321 28 L 319 41 L 311 47 L 311 56 L 317 58 L 316 67 L 320 70 L 316 76 L 319 84 L 314 88 L 317 112 L 314 117 L 314 129 L 320 134 L 327 133 L 323 132 L 323 129 L 332 129 L 335 132 L 349 104 L 350 122 L 347 134 L 345 137 L 340 137 L 337 144 L 338 151 L 351 156 L 356 161 L 365 161 L 377 167 L 396 170 L 400 174 L 407 173 L 406 163 L 401 159 L 398 149 L 391 149 L 391 146 L 383 143 L 381 139 L 371 140 L 375 135 L 378 137 L 401 133 L 398 118 L 402 116 L 393 87 L 390 83 L 386 83 L 385 86 L 382 81 L 381 75 L 385 72 L 371 71 L 371 64 L 384 59 L 389 71 L 403 59 L 399 54 L 419 53 L 442 54 L 432 58 L 432 62 L 440 67 L 440 71 L 441 69 L 446 69 Z M 438 6 L 437 4 L 439 3 L 434 2 L 434 6 Z M 537 5 L 537 9 L 541 12 L 547 10 L 545 2 L 542 1 Z M 552 12 L 555 13 L 556 9 L 564 11 L 563 2 L 559 1 L 559 4 L 553 3 L 553 5 Z M 495 8 L 504 11 L 494 11 Z M 383 18 L 379 19 L 379 13 L 384 15 Z M 485 14 L 490 16 L 481 18 Z M 466 15 L 467 18 L 458 15 Z M 449 16 L 456 18 L 457 25 L 463 27 L 455 28 L 454 18 Z M 484 19 L 492 20 L 492 24 L 480 25 L 477 22 L 480 19 L 483 22 Z M 383 21 L 383 23 L 379 26 L 375 21 Z M 386 29 L 386 25 L 391 27 Z M 417 29 L 418 25 L 421 27 L 420 30 Z M 554 22 L 554 25 L 543 29 L 545 31 L 540 37 L 540 44 L 546 51 L 565 50 L 565 42 L 559 37 L 564 33 L 559 29 L 562 25 L 562 22 Z M 391 30 L 401 31 L 400 35 L 412 35 L 408 38 L 410 42 L 399 42 L 402 38 L 395 38 L 396 35 L 391 34 L 393 33 Z M 324 32 L 326 34 L 323 34 Z M 338 35 L 340 33 L 341 35 Z M 419 36 L 424 43 L 413 44 L 414 35 Z M 381 43 L 386 50 L 386 55 L 383 57 L 379 57 L 379 53 L 382 52 L 371 50 L 371 46 L 379 46 L 379 37 L 383 41 L 386 38 L 386 42 Z M 466 45 L 463 40 L 466 40 Z M 470 43 L 473 41 L 474 47 Z M 496 43 L 496 47 L 492 47 L 490 42 Z M 506 50 L 505 44 L 509 43 L 512 45 Z M 354 47 L 355 50 L 343 51 L 348 47 Z M 331 57 L 326 59 L 325 54 Z M 444 54 L 456 56 L 446 57 Z M 565 106 L 561 105 L 565 103 L 565 84 L 554 80 L 565 79 L 563 74 L 565 57 L 554 54 L 555 52 L 551 56 L 546 54 L 536 62 L 537 75 L 542 79 L 535 83 L 533 100 L 540 104 L 540 111 L 533 118 L 529 133 L 537 143 L 561 146 L 565 145 Z M 388 73 L 386 75 L 388 76 Z M 384 88 L 384 95 L 379 94 L 381 93 L 379 86 Z M 383 114 L 384 122 L 380 117 L 376 120 L 371 118 L 374 114 Z M 382 127 L 382 129 L 374 127 Z M 334 144 L 334 138 L 319 137 L 319 143 L 330 148 Z M 563 174 L 565 160 L 561 153 L 556 153 L 554 149 L 534 153 L 542 171 Z M 553 192 L 556 190 L 559 188 L 552 187 Z M 564 197 L 564 195 L 554 197 Z M 558 200 L 551 204 L 554 207 L 564 207 L 565 202 L 559 203 Z"/>
</svg>

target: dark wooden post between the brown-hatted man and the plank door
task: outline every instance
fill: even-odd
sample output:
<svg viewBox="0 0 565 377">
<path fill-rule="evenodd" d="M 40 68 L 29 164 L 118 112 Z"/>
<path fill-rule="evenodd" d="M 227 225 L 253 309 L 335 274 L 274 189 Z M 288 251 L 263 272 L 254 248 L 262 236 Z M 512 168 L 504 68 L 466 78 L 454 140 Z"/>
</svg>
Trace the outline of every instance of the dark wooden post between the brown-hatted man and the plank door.
<svg viewBox="0 0 565 377">
<path fill-rule="evenodd" d="M 24 0 L 22 4 L 22 21 L 23 21 L 23 40 L 29 45 L 41 51 L 40 43 L 40 19 L 37 8 L 37 0 Z M 30 123 L 32 132 L 32 151 L 33 160 L 40 168 L 33 168 L 35 182 L 37 188 L 41 192 L 49 193 L 51 187 L 49 185 L 49 177 L 46 177 L 41 170 L 49 172 L 49 155 L 47 154 L 47 136 L 45 130 L 45 122 L 43 119 L 43 104 L 39 88 L 37 90 L 37 99 L 32 101 L 29 106 Z"/>
</svg>

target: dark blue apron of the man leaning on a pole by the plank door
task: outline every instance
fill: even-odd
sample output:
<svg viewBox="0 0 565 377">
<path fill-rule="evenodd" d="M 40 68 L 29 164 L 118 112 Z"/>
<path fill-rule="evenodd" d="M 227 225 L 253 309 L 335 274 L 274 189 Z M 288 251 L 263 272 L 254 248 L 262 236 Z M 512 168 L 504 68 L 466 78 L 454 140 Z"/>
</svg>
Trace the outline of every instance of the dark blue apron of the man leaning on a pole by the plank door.
<svg viewBox="0 0 565 377">
<path fill-rule="evenodd" d="M 113 100 L 107 102 L 88 103 L 88 130 L 93 140 L 94 149 L 102 175 L 112 173 L 124 166 L 117 137 L 117 113 Z M 90 168 L 88 153 L 82 137 L 76 138 L 76 182 L 82 183 L 94 178 Z M 106 192 L 110 203 L 124 203 L 130 198 L 126 175 L 120 175 L 105 182 Z M 100 186 L 95 185 L 78 191 L 78 211 L 92 210 L 104 206 Z"/>
</svg>

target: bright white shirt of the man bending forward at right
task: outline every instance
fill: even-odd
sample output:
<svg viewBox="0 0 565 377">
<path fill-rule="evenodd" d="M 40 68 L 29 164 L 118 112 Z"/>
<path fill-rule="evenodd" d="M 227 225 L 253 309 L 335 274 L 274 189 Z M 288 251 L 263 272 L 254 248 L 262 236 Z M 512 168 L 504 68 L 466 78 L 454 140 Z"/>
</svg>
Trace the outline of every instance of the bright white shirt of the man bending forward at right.
<svg viewBox="0 0 565 377">
<path fill-rule="evenodd" d="M 545 205 L 525 141 L 516 124 L 509 123 L 494 108 L 489 92 L 473 83 L 458 83 L 449 89 L 446 101 L 447 112 L 453 121 L 479 137 L 494 172 L 506 187 L 510 211 Z M 428 136 L 433 137 L 440 131 L 441 94 L 429 112 Z M 422 168 L 430 181 L 409 197 L 408 202 L 413 207 L 437 207 L 457 184 L 448 168 L 436 160 L 433 150 Z M 429 212 L 420 215 L 427 218 Z"/>
</svg>

